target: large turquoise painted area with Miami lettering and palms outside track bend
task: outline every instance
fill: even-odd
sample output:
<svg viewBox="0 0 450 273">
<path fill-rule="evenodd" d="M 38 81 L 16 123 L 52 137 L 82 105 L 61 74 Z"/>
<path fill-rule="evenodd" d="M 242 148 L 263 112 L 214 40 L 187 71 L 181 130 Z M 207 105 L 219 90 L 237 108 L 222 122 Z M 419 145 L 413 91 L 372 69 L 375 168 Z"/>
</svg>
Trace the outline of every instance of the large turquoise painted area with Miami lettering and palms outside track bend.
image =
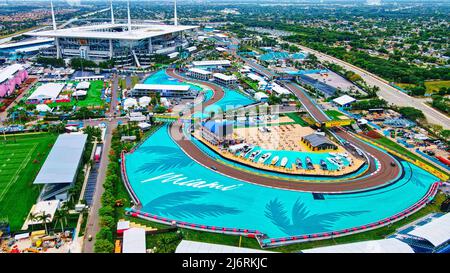
<svg viewBox="0 0 450 273">
<path fill-rule="evenodd" d="M 167 127 L 125 160 L 143 211 L 197 224 L 256 229 L 272 238 L 381 220 L 411 206 L 438 180 L 402 162 L 405 174 L 390 186 L 315 200 L 311 193 L 254 185 L 203 167 L 179 149 Z"/>
</svg>

